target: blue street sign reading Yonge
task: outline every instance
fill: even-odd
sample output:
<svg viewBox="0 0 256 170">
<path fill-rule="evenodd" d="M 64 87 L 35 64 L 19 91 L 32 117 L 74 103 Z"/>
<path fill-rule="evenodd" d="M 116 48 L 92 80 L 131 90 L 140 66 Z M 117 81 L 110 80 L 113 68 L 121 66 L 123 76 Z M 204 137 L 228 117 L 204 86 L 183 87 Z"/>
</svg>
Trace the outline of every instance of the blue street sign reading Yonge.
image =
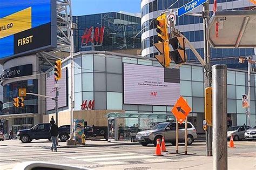
<svg viewBox="0 0 256 170">
<path fill-rule="evenodd" d="M 188 2 L 187 4 L 178 8 L 178 17 L 183 16 L 185 13 L 198 8 L 198 6 L 200 6 L 206 2 L 207 2 L 207 0 L 193 0 L 191 2 Z"/>
</svg>

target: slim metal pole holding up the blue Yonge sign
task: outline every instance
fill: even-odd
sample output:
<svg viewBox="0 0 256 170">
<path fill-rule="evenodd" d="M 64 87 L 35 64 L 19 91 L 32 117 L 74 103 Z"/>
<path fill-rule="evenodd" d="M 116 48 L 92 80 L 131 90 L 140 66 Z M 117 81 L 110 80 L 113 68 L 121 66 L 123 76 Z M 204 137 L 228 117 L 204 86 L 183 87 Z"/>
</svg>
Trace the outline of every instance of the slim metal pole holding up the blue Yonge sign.
<svg viewBox="0 0 256 170">
<path fill-rule="evenodd" d="M 210 45 L 207 42 L 207 24 L 210 19 L 209 11 L 209 2 L 207 1 L 203 5 L 203 22 L 204 22 L 204 61 L 206 65 L 210 67 Z M 205 88 L 211 86 L 210 75 L 207 70 L 204 70 L 205 73 Z M 206 142 L 206 156 L 212 156 L 212 127 L 208 126 L 205 133 L 205 142 Z"/>
</svg>

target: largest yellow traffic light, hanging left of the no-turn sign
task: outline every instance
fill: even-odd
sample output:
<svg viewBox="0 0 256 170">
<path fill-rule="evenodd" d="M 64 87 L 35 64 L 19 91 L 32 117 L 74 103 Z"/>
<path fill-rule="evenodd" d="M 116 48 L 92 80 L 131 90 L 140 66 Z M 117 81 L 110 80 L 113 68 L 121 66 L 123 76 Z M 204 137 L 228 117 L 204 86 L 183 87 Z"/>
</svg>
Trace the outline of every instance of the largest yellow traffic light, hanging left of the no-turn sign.
<svg viewBox="0 0 256 170">
<path fill-rule="evenodd" d="M 154 46 L 160 52 L 160 55 L 154 56 L 158 62 L 164 67 L 169 67 L 171 63 L 169 51 L 169 35 L 167 30 L 167 21 L 166 21 L 166 13 L 157 17 L 155 21 L 157 25 L 157 38 L 158 43 L 155 43 Z"/>
</svg>

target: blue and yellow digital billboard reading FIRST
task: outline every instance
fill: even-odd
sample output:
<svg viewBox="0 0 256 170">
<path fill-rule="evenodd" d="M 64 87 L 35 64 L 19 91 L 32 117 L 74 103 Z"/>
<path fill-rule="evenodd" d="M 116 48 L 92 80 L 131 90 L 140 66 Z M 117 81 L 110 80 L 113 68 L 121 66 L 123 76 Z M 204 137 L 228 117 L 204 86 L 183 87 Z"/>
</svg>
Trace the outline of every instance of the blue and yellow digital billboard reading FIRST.
<svg viewBox="0 0 256 170">
<path fill-rule="evenodd" d="M 0 0 L 0 59 L 56 45 L 56 0 Z"/>
</svg>

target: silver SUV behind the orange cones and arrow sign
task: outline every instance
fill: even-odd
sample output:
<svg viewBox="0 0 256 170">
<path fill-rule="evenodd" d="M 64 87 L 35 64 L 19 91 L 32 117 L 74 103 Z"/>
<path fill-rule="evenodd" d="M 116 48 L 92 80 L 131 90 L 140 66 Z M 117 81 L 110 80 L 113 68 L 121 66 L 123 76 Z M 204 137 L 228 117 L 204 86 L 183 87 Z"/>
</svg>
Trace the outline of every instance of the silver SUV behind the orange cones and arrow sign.
<svg viewBox="0 0 256 170">
<path fill-rule="evenodd" d="M 179 124 L 179 141 L 184 142 L 185 140 L 185 123 Z M 152 127 L 151 130 L 142 131 L 137 133 L 136 139 L 140 144 L 146 146 L 147 144 L 153 143 L 157 145 L 157 139 L 164 137 L 166 142 L 171 142 L 173 145 L 176 144 L 176 123 L 159 123 Z M 191 123 L 187 123 L 187 145 L 191 145 L 194 139 L 197 138 L 197 130 Z"/>
</svg>

